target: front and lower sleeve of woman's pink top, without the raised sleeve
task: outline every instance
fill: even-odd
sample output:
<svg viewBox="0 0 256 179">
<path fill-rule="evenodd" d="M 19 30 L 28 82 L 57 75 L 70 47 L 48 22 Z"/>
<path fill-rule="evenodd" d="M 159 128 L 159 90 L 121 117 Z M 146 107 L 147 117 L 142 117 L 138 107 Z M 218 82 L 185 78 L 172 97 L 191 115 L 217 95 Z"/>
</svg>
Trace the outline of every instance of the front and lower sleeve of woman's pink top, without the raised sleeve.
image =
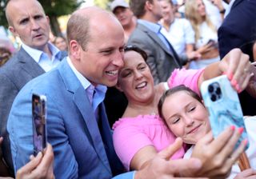
<svg viewBox="0 0 256 179">
<path fill-rule="evenodd" d="M 121 118 L 114 123 L 113 129 L 114 149 L 127 170 L 139 149 L 153 145 L 159 152 L 175 140 L 174 134 L 158 115 Z M 180 149 L 171 158 L 181 158 L 184 152 L 184 149 Z"/>
</svg>

